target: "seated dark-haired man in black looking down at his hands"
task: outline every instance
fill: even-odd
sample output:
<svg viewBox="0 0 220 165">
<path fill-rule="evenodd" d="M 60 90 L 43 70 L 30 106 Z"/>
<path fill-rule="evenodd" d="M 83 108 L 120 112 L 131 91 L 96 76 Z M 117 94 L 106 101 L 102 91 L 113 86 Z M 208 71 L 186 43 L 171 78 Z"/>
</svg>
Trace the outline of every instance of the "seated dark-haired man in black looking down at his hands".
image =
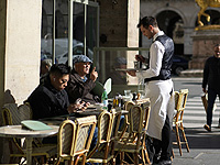
<svg viewBox="0 0 220 165">
<path fill-rule="evenodd" d="M 73 113 L 82 105 L 69 105 L 68 96 L 64 88 L 69 80 L 70 67 L 64 64 L 55 64 L 51 67 L 48 75 L 28 98 L 33 119 L 51 118 Z"/>
</svg>

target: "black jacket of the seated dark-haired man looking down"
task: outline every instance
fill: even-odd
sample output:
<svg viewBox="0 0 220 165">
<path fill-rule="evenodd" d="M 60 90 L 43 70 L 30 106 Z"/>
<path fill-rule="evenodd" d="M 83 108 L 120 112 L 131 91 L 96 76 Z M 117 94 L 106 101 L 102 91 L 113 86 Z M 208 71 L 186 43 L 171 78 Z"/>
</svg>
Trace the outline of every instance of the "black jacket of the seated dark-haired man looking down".
<svg viewBox="0 0 220 165">
<path fill-rule="evenodd" d="M 68 96 L 65 90 L 58 91 L 52 85 L 50 77 L 40 85 L 28 98 L 30 102 L 33 119 L 51 118 L 56 116 L 68 114 L 69 106 Z"/>
</svg>

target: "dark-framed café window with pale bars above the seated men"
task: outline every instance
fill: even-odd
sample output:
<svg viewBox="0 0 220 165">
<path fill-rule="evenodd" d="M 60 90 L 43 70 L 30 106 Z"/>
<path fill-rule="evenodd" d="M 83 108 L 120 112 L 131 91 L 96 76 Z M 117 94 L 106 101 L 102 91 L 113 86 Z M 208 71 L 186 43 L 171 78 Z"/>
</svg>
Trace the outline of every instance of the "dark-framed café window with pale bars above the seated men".
<svg viewBox="0 0 220 165">
<path fill-rule="evenodd" d="M 54 7 L 56 7 L 55 10 Z M 69 7 L 72 7 L 70 10 Z M 43 0 L 42 11 L 42 56 L 54 58 L 54 63 L 65 63 L 69 58 L 69 50 L 73 48 L 73 55 L 84 54 L 94 58 L 92 50 L 99 43 L 99 26 L 97 25 L 99 6 L 97 2 Z M 70 36 L 73 36 L 72 48 L 69 46 Z"/>
</svg>

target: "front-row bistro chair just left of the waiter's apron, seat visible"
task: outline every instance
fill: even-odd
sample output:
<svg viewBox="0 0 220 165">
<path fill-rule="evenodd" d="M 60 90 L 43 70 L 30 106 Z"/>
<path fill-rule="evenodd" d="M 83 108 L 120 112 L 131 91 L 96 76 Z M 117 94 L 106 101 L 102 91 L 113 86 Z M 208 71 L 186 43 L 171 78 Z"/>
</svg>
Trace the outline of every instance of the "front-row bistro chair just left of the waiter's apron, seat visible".
<svg viewBox="0 0 220 165">
<path fill-rule="evenodd" d="M 132 106 L 129 111 L 129 135 L 123 141 L 117 141 L 114 146 L 114 151 L 117 152 L 116 157 L 118 154 L 120 154 L 120 164 L 128 164 L 128 162 L 124 161 L 124 154 L 135 165 L 139 164 L 140 158 L 142 160 L 143 164 L 145 164 L 145 130 L 143 120 L 144 110 L 141 108 L 141 106 Z"/>
</svg>

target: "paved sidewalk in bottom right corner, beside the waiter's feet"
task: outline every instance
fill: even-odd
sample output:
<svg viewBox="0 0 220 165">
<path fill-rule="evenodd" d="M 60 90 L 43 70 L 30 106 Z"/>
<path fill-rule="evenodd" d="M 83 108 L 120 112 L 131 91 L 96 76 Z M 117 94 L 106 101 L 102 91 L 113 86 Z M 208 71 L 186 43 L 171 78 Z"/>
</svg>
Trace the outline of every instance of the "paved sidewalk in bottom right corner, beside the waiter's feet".
<svg viewBox="0 0 220 165">
<path fill-rule="evenodd" d="M 212 128 L 207 132 L 204 128 L 185 128 L 190 152 L 187 153 L 183 144 L 183 155 L 179 155 L 177 145 L 174 145 L 175 157 L 173 165 L 219 165 L 220 164 L 220 129 Z M 175 134 L 173 134 L 176 141 Z"/>
</svg>

